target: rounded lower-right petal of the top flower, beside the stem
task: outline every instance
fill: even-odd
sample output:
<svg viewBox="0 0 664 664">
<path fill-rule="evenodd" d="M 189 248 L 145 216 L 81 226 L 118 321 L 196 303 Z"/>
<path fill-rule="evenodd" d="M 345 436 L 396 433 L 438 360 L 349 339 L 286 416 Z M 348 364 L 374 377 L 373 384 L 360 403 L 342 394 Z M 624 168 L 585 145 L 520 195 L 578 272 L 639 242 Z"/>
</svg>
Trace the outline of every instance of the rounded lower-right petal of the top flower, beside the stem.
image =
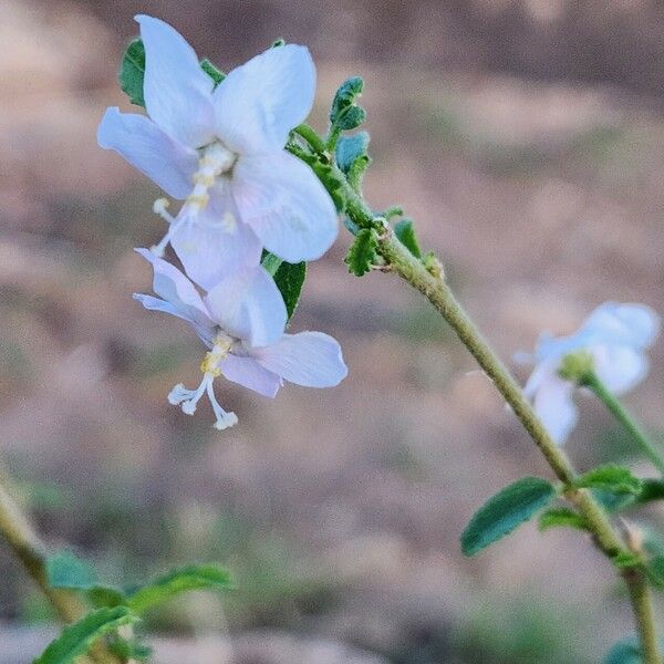
<svg viewBox="0 0 664 664">
<path fill-rule="evenodd" d="M 288 153 L 240 157 L 232 194 L 242 221 L 289 262 L 320 258 L 339 232 L 330 195 L 311 168 Z"/>
</svg>

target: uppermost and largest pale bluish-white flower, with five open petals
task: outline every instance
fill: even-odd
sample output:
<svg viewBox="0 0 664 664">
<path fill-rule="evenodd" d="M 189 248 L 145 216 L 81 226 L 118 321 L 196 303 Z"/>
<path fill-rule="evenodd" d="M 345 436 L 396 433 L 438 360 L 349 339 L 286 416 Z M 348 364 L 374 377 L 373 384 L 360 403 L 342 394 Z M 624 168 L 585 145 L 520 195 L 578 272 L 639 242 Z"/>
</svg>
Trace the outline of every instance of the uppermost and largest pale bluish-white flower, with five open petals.
<svg viewBox="0 0 664 664">
<path fill-rule="evenodd" d="M 210 286 L 258 264 L 262 247 L 283 260 L 320 258 L 338 234 L 334 205 L 313 172 L 284 151 L 311 111 L 315 69 L 309 50 L 272 48 L 215 87 L 184 38 L 137 15 L 145 45 L 147 116 L 106 111 L 97 133 L 173 198 L 168 241 L 191 277 Z"/>
</svg>

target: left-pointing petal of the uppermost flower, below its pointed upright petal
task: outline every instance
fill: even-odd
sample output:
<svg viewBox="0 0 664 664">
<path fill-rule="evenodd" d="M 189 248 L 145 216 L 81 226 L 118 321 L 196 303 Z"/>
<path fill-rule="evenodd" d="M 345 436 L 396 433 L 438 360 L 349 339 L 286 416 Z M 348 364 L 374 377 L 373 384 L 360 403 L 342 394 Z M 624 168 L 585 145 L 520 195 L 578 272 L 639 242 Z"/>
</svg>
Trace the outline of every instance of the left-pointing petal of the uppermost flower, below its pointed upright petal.
<svg viewBox="0 0 664 664">
<path fill-rule="evenodd" d="M 169 196 L 183 199 L 191 193 L 191 176 L 198 168 L 196 152 L 170 138 L 145 115 L 120 113 L 117 106 L 107 108 L 97 142 L 120 153 Z"/>
</svg>

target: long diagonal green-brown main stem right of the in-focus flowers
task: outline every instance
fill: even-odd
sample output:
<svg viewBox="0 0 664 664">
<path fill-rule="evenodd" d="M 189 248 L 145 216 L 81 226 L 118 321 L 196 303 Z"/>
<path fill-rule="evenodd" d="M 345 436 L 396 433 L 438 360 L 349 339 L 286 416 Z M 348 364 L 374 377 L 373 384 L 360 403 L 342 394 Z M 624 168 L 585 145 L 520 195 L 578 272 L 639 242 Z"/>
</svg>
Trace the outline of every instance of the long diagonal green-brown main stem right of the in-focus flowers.
<svg viewBox="0 0 664 664">
<path fill-rule="evenodd" d="M 310 128 L 310 127 L 309 127 Z M 313 144 L 310 142 L 313 147 Z M 475 357 L 485 374 L 492 381 L 505 401 L 539 447 L 553 473 L 566 486 L 566 497 L 583 516 L 599 549 L 610 559 L 618 554 L 629 554 L 621 537 L 616 533 L 605 510 L 585 489 L 574 488 L 577 476 L 564 453 L 554 443 L 549 432 L 538 417 L 530 402 L 523 396 L 521 387 L 511 376 L 509 370 L 500 361 L 475 323 L 468 318 L 454 293 L 436 271 L 429 272 L 424 262 L 415 258 L 366 205 L 360 194 L 349 184 L 341 170 L 333 166 L 344 186 L 346 214 L 361 228 L 374 228 L 378 231 L 378 252 L 386 263 L 404 281 L 418 290 L 440 313 L 455 331 L 461 343 Z M 323 183 L 324 185 L 324 183 Z M 626 572 L 625 572 L 626 573 Z M 656 639 L 653 637 L 654 625 L 650 598 L 643 585 L 641 572 L 630 570 L 629 581 L 632 608 L 644 653 L 651 653 L 646 664 L 661 664 Z"/>
</svg>

